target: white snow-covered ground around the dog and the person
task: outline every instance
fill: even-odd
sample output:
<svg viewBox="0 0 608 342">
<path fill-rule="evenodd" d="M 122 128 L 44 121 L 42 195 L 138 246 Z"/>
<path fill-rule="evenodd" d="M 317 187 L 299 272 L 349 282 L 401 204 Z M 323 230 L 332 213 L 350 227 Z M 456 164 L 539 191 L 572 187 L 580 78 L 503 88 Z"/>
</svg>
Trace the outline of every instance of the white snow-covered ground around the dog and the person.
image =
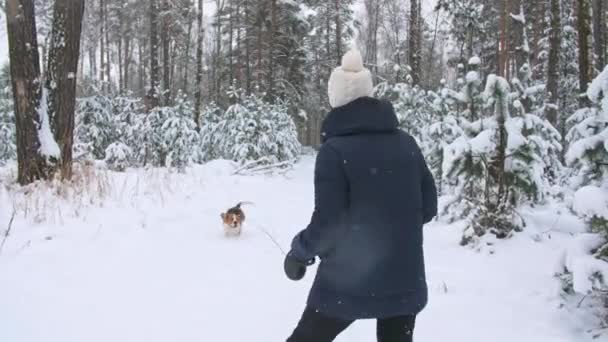
<svg viewBox="0 0 608 342">
<path fill-rule="evenodd" d="M 264 230 L 286 248 L 307 224 L 313 164 L 307 156 L 275 176 L 233 176 L 221 161 L 186 175 L 112 174 L 90 183 L 103 200 L 15 192 L 6 184 L 14 171 L 0 169 L 0 231 L 11 203 L 20 210 L 0 255 L 0 340 L 284 341 L 313 270 L 287 280 Z M 246 208 L 244 235 L 227 239 L 219 214 L 238 201 L 255 206 Z M 425 228 L 430 303 L 417 341 L 592 340 L 595 319 L 563 305 L 554 277 L 581 223 L 551 208 L 523 215 L 524 233 L 478 250 L 458 245 L 458 224 Z M 374 336 L 374 323 L 362 321 L 338 341 Z"/>
</svg>

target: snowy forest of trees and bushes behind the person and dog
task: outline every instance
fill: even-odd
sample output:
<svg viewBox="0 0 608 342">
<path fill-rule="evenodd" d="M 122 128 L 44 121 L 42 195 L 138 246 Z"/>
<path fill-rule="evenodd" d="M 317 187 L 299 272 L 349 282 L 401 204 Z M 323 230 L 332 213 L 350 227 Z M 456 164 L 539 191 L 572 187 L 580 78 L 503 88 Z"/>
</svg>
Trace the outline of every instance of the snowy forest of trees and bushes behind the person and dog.
<svg viewBox="0 0 608 342">
<path fill-rule="evenodd" d="M 569 203 L 592 238 L 584 262 L 558 272 L 563 291 L 608 303 L 604 0 L 0 8 L 0 166 L 17 168 L 12 182 L 70 182 L 87 163 L 184 172 L 226 159 L 239 172 L 283 172 L 319 146 L 327 80 L 356 47 L 376 96 L 423 149 L 439 219 L 466 223 L 461 244 L 525 230 L 524 207 Z"/>
</svg>

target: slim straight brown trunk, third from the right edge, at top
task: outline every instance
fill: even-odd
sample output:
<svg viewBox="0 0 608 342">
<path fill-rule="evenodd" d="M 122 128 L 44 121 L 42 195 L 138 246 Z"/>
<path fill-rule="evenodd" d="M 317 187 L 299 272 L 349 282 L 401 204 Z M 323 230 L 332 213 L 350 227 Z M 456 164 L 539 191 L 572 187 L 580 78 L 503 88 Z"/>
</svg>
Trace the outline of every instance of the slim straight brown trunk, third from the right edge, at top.
<svg viewBox="0 0 608 342">
<path fill-rule="evenodd" d="M 562 44 L 561 38 L 561 0 L 551 0 L 551 31 L 549 34 L 549 65 L 547 70 L 547 93 L 549 103 L 545 106 L 545 117 L 557 127 L 557 107 L 559 101 L 559 55 Z"/>
</svg>

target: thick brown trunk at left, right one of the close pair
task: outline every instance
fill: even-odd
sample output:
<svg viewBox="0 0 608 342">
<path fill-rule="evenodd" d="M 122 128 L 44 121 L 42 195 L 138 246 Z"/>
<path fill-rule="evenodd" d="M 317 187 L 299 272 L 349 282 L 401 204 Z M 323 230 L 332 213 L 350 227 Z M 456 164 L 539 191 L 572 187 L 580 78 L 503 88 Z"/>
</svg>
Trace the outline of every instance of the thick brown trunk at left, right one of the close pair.
<svg viewBox="0 0 608 342">
<path fill-rule="evenodd" d="M 55 0 L 47 74 L 48 114 L 61 150 L 58 165 L 63 179 L 72 177 L 76 75 L 84 0 Z"/>
</svg>

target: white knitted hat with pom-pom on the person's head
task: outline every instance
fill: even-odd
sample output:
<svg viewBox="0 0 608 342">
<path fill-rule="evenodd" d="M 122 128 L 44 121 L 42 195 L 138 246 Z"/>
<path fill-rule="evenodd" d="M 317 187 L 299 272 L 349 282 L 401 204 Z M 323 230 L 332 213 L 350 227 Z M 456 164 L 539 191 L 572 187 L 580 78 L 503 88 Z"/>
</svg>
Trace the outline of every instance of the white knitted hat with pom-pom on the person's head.
<svg viewBox="0 0 608 342">
<path fill-rule="evenodd" d="M 327 92 L 332 108 L 344 106 L 360 97 L 372 96 L 372 74 L 363 66 L 359 50 L 350 50 L 342 57 L 342 65 L 331 73 Z"/>
</svg>

